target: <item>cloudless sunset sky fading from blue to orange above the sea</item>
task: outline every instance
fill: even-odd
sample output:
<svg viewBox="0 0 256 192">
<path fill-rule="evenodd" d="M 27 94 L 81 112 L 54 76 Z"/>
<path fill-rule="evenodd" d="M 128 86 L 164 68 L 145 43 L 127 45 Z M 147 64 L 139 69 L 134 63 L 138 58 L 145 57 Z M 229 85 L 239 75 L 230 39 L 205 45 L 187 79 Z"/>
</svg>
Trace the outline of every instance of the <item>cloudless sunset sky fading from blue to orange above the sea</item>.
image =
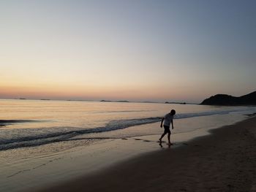
<svg viewBox="0 0 256 192">
<path fill-rule="evenodd" d="M 0 98 L 200 102 L 256 85 L 256 1 L 0 1 Z"/>
</svg>

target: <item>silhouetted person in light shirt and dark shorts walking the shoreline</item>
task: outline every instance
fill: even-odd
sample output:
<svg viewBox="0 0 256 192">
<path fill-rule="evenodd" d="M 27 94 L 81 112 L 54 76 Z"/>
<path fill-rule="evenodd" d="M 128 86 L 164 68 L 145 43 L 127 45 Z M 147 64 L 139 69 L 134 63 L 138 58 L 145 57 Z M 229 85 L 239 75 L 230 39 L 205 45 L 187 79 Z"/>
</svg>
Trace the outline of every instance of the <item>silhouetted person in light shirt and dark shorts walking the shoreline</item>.
<svg viewBox="0 0 256 192">
<path fill-rule="evenodd" d="M 167 113 L 165 115 L 165 118 L 162 118 L 160 127 L 162 128 L 162 122 L 165 120 L 165 123 L 164 123 L 165 131 L 159 139 L 159 142 L 160 142 L 159 145 L 161 145 L 161 146 L 162 146 L 162 137 L 165 137 L 165 134 L 167 134 L 167 137 L 168 137 L 168 145 L 171 145 L 171 142 L 170 142 L 170 123 L 172 123 L 172 129 L 173 129 L 173 116 L 175 114 L 176 114 L 176 111 L 171 110 L 169 113 Z"/>
</svg>

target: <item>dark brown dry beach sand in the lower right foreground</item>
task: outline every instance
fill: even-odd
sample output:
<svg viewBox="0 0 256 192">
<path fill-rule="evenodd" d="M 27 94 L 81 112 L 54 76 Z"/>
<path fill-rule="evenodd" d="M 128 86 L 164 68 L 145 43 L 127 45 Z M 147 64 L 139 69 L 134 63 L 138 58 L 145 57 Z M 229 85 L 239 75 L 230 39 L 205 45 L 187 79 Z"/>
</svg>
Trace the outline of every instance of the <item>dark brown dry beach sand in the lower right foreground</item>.
<svg viewBox="0 0 256 192">
<path fill-rule="evenodd" d="M 256 117 L 42 191 L 256 191 Z"/>
</svg>

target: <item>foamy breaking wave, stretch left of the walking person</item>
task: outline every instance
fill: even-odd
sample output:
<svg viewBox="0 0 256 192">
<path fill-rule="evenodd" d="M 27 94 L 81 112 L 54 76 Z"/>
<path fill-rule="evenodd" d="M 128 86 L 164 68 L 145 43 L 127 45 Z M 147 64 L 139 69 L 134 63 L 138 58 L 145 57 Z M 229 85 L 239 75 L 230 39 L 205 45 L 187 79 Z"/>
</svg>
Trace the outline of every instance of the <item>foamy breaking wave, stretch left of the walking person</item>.
<svg viewBox="0 0 256 192">
<path fill-rule="evenodd" d="M 146 123 L 155 123 L 159 121 L 160 118 L 140 118 L 140 119 L 130 119 L 130 120 L 111 120 L 109 123 L 105 125 L 105 127 L 97 127 L 97 128 L 87 128 L 80 129 L 74 127 L 63 127 L 63 128 L 37 128 L 34 129 L 26 129 L 18 130 L 24 131 L 23 134 L 29 135 L 26 137 L 16 137 L 10 139 L 1 139 L 0 150 L 9 150 L 18 147 L 32 147 L 37 145 L 44 145 L 51 142 L 61 142 L 67 141 L 72 137 L 78 136 L 80 134 L 94 134 L 94 133 L 102 133 L 106 131 L 115 131 L 122 128 L 127 128 L 130 126 L 138 126 Z M 48 129 L 49 132 L 43 131 L 44 129 Z M 74 130 L 75 129 L 75 130 Z M 72 130 L 72 131 L 67 131 Z M 13 130 L 15 131 L 15 130 Z M 34 135 L 31 135 L 31 132 L 34 131 Z M 38 132 L 41 134 L 38 134 Z M 56 132 L 51 132 L 56 131 Z"/>
</svg>

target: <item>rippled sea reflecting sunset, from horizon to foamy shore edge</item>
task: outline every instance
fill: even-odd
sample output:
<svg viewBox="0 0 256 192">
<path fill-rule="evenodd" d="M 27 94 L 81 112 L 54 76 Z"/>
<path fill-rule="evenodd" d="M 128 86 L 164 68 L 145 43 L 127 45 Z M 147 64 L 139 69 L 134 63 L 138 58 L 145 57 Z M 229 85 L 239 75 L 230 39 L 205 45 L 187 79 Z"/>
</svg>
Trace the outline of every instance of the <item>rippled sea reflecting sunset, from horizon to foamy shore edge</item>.
<svg viewBox="0 0 256 192">
<path fill-rule="evenodd" d="M 176 134 L 194 131 L 202 126 L 236 123 L 246 114 L 256 112 L 256 107 L 1 99 L 0 151 L 89 138 L 93 142 L 94 138 L 158 134 L 157 128 L 154 131 L 131 127 L 160 122 L 171 109 L 176 110 L 175 121 L 181 122 Z M 208 116 L 214 118 L 209 120 Z M 198 117 L 200 120 L 197 119 L 195 125 L 194 119 Z M 194 126 L 189 126 L 193 122 Z"/>
</svg>

